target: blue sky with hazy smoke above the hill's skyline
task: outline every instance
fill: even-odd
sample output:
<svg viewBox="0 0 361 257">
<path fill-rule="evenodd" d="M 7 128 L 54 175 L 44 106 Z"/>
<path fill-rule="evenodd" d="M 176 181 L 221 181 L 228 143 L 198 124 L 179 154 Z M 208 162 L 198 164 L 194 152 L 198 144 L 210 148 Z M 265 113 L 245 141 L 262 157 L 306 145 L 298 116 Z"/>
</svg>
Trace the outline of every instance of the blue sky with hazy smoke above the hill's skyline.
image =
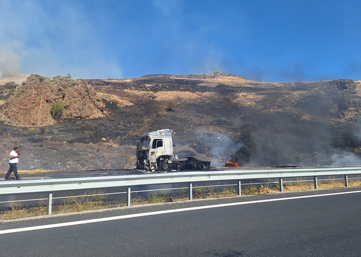
<svg viewBox="0 0 361 257">
<path fill-rule="evenodd" d="M 361 1 L 0 0 L 1 73 L 361 79 Z"/>
</svg>

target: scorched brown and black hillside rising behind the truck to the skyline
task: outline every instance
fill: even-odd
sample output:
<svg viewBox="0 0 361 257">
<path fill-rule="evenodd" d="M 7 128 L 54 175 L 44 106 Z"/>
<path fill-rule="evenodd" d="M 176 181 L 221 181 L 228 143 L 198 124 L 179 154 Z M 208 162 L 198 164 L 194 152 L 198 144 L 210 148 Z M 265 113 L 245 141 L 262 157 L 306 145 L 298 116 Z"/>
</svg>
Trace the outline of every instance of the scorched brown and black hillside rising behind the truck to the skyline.
<svg viewBox="0 0 361 257">
<path fill-rule="evenodd" d="M 57 89 L 63 90 L 64 84 L 53 85 L 52 91 L 46 86 L 50 80 L 86 85 L 94 91 L 89 97 L 92 105 L 79 102 L 78 97 L 83 97 L 79 93 L 66 92 L 63 100 L 74 98 L 77 110 L 95 106 L 101 115 L 70 115 L 75 109 L 66 104 L 67 114 L 53 120 L 52 126 L 26 123 L 29 117 L 49 113 L 34 112 L 40 103 L 29 104 L 29 83 L 16 89 L 3 84 L 0 171 L 8 169 L 8 152 L 15 145 L 22 151 L 20 170 L 132 167 L 140 135 L 163 128 L 177 132 L 174 143 L 179 157 L 210 160 L 212 166 L 224 166 L 231 158 L 250 167 L 361 163 L 360 81 L 267 83 L 223 73 L 129 79 L 57 77 L 45 79 L 39 88 L 31 87 L 31 96 L 52 96 L 47 107 L 51 108 L 61 100 Z M 12 123 L 4 113 L 16 103 L 22 103 L 18 109 L 27 109 Z"/>
</svg>

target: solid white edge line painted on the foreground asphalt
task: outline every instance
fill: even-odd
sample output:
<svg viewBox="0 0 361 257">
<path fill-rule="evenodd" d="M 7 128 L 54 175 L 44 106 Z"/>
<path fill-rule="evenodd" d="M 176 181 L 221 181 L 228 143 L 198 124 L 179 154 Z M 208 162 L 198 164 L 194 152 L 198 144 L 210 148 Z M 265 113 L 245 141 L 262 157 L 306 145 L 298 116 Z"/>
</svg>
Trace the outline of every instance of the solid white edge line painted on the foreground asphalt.
<svg viewBox="0 0 361 257">
<path fill-rule="evenodd" d="M 42 225 L 42 226 L 34 226 L 34 227 L 14 228 L 14 229 L 8 229 L 8 230 L 1 230 L 0 234 L 23 232 L 23 231 L 30 231 L 30 230 L 39 230 L 39 229 L 44 229 L 44 228 L 73 226 L 73 225 L 80 225 L 80 224 L 101 222 L 101 221 L 113 221 L 116 219 L 127 219 L 127 218 L 134 218 L 134 217 L 172 213 L 172 212 L 185 212 L 188 210 L 199 210 L 199 209 L 217 208 L 217 207 L 223 207 L 223 206 L 232 206 L 232 205 L 241 205 L 241 204 L 256 204 L 256 203 L 260 203 L 260 202 L 273 202 L 273 201 L 282 201 L 282 200 L 291 200 L 291 199 L 300 199 L 300 198 L 309 198 L 309 197 L 318 197 L 318 196 L 342 195 L 342 194 L 347 194 L 347 193 L 360 193 L 360 192 L 361 192 L 361 190 L 360 191 L 351 191 L 351 192 L 328 193 L 328 194 L 323 194 L 323 195 L 295 196 L 295 197 L 285 197 L 285 198 L 257 200 L 257 201 L 248 201 L 248 202 L 232 202 L 229 204 L 206 205 L 206 206 L 198 206 L 198 207 L 190 207 L 190 208 L 182 208 L 182 209 L 173 209 L 173 210 L 161 210 L 161 211 L 157 211 L 157 212 L 137 213 L 137 214 L 129 214 L 129 215 L 122 215 L 122 216 L 115 216 L 115 217 L 108 217 L 108 218 L 99 218 L 99 219 L 88 219 L 88 220 L 84 220 L 84 221 L 73 221 L 73 222 L 49 224 L 49 225 Z"/>
</svg>

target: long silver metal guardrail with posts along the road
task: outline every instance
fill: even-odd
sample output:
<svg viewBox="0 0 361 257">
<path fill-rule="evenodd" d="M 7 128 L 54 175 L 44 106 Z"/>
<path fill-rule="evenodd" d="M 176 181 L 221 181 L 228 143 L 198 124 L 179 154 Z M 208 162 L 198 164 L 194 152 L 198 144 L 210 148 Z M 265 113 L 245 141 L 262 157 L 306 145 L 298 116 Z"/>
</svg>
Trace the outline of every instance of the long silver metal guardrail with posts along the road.
<svg viewBox="0 0 361 257">
<path fill-rule="evenodd" d="M 0 196 L 27 193 L 48 193 L 48 214 L 51 214 L 52 193 L 58 191 L 86 190 L 110 187 L 127 187 L 128 206 L 130 205 L 131 187 L 155 184 L 189 183 L 189 199 L 192 200 L 192 183 L 219 180 L 238 180 L 238 195 L 241 195 L 242 179 L 278 178 L 279 190 L 283 191 L 283 178 L 313 177 L 314 188 L 317 189 L 318 176 L 344 175 L 345 186 L 348 186 L 347 175 L 361 174 L 361 166 L 347 167 L 310 167 L 281 169 L 227 169 L 218 171 L 187 171 L 177 173 L 156 173 L 136 175 L 113 175 L 104 177 L 56 178 L 36 180 L 0 181 Z"/>
</svg>

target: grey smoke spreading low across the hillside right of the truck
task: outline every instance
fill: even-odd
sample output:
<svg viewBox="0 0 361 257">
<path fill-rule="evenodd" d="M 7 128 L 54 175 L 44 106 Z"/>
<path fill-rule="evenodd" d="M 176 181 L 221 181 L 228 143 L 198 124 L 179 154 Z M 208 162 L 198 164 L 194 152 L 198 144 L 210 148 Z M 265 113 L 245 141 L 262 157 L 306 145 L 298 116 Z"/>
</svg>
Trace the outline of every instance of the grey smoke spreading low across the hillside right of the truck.
<svg viewBox="0 0 361 257">
<path fill-rule="evenodd" d="M 266 130 L 272 135 L 265 136 Z M 269 121 L 264 126 L 247 122 L 237 134 L 236 139 L 222 133 L 203 136 L 205 145 L 212 145 L 212 166 L 223 167 L 229 160 L 241 167 L 361 165 L 360 156 L 341 148 L 340 142 L 348 144 L 347 139 L 331 126 L 300 126 L 285 120 Z M 356 146 L 360 141 L 353 143 Z"/>
</svg>

